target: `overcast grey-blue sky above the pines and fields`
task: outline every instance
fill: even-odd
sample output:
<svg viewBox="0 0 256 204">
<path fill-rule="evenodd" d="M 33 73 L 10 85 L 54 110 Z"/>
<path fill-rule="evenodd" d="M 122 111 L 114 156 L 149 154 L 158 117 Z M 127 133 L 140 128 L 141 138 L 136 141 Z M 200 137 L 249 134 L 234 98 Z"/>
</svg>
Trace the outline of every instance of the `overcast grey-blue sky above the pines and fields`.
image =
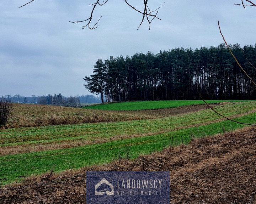
<svg viewBox="0 0 256 204">
<path fill-rule="evenodd" d="M 223 43 L 255 45 L 256 8 L 235 6 L 241 0 L 148 0 L 159 9 L 149 24 L 124 0 L 97 6 L 92 21 L 98 28 L 82 29 L 96 0 L 8 0 L 0 2 L 0 96 L 91 94 L 83 86 L 98 59 L 110 56 L 155 55 L 177 47 L 217 47 Z M 128 0 L 143 10 L 143 0 Z"/>
</svg>

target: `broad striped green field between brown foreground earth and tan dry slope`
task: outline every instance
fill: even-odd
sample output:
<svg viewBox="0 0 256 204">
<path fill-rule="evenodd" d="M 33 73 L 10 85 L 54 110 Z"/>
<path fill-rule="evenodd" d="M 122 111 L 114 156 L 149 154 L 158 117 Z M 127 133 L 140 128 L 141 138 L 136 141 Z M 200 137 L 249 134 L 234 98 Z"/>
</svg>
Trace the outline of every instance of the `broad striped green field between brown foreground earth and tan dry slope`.
<svg viewBox="0 0 256 204">
<path fill-rule="evenodd" d="M 134 103 L 133 108 L 139 104 L 139 109 L 144 102 L 129 102 L 130 106 L 131 103 Z M 193 104 L 191 101 L 187 103 Z M 157 102 L 152 104 L 151 107 L 155 107 Z M 177 104 L 172 103 L 172 106 Z M 256 122 L 254 101 L 223 103 L 215 110 L 244 123 Z M 19 177 L 42 174 L 53 168 L 54 171 L 63 171 L 110 163 L 117 155 L 126 157 L 129 153 L 130 158 L 136 158 L 140 154 L 161 151 L 169 145 L 187 144 L 194 136 L 204 137 L 244 126 L 206 109 L 147 120 L 0 130 L 0 184 L 19 181 Z M 63 144 L 67 146 L 63 147 Z M 52 149 L 37 149 L 43 146 Z M 12 152 L 19 148 L 23 153 Z M 5 154 L 5 151 L 9 153 Z"/>
</svg>

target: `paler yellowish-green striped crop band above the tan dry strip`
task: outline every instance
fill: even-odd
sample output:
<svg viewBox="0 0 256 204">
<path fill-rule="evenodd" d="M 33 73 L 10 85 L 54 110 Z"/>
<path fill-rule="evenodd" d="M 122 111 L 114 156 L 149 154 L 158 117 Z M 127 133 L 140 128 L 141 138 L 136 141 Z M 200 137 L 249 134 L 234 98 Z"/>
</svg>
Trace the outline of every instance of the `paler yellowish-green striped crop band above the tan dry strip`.
<svg viewBox="0 0 256 204">
<path fill-rule="evenodd" d="M 254 102 L 227 103 L 216 108 L 230 117 L 255 109 Z M 176 115 L 168 118 L 132 120 L 116 123 L 87 123 L 34 128 L 6 129 L 0 132 L 0 146 L 44 144 L 78 140 L 95 141 L 102 138 L 159 134 L 175 129 L 203 125 L 223 119 L 212 110 Z"/>
</svg>

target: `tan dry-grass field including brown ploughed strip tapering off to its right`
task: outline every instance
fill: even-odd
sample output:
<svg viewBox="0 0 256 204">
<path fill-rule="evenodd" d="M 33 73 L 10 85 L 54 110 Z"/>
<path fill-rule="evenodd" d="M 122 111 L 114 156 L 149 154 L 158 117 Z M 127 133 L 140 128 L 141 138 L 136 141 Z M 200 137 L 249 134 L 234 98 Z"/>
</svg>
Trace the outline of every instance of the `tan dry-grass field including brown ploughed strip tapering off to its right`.
<svg viewBox="0 0 256 204">
<path fill-rule="evenodd" d="M 5 127 L 23 128 L 47 125 L 116 122 L 168 117 L 207 109 L 205 105 L 145 111 L 101 111 L 38 104 L 16 104 Z"/>
</svg>

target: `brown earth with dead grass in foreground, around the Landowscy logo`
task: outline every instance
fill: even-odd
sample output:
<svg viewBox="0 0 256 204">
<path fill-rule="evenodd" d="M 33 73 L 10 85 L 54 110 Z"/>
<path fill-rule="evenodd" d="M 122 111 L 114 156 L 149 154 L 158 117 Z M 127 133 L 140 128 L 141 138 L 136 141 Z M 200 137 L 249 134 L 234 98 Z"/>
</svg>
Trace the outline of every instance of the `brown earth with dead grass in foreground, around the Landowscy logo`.
<svg viewBox="0 0 256 204">
<path fill-rule="evenodd" d="M 170 203 L 256 203 L 256 129 L 193 139 L 135 160 L 26 178 L 2 186 L 0 203 L 85 203 L 86 170 L 170 171 Z"/>
</svg>

